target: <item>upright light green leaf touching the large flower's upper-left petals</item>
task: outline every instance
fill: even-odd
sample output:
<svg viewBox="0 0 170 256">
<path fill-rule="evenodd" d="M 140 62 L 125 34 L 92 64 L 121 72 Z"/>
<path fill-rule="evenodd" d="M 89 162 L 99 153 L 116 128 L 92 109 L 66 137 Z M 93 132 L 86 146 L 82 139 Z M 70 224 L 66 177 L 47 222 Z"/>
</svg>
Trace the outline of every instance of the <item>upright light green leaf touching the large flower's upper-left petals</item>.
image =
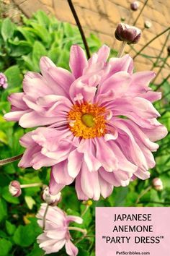
<svg viewBox="0 0 170 256">
<path fill-rule="evenodd" d="M 40 71 L 40 68 L 39 68 L 40 58 L 45 55 L 47 55 L 47 51 L 45 50 L 45 47 L 42 45 L 42 43 L 35 41 L 33 46 L 33 51 L 32 51 L 32 61 L 33 61 L 33 64 L 35 65 L 36 71 Z"/>
</svg>

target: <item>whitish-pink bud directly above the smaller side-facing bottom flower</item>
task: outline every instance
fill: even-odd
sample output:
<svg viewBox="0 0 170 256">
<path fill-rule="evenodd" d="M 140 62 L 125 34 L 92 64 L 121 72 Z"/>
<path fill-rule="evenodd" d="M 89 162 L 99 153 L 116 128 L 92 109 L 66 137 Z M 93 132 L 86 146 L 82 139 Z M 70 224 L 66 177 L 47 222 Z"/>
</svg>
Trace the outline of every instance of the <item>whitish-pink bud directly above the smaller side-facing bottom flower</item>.
<svg viewBox="0 0 170 256">
<path fill-rule="evenodd" d="M 61 201 L 61 192 L 56 195 L 51 195 L 49 187 L 45 187 L 42 192 L 42 200 L 48 203 L 48 205 L 57 205 Z"/>
</svg>

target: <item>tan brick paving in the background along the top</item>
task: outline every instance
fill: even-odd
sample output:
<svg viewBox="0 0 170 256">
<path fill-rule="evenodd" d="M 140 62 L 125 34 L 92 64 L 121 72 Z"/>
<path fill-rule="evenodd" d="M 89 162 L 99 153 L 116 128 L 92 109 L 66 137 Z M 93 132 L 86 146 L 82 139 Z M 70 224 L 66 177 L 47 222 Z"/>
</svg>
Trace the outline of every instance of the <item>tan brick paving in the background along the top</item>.
<svg viewBox="0 0 170 256">
<path fill-rule="evenodd" d="M 120 42 L 114 37 L 117 23 L 122 19 L 122 22 L 133 25 L 146 1 L 138 1 L 139 7 L 135 12 L 130 10 L 130 3 L 132 2 L 130 0 L 73 0 L 86 35 L 94 33 L 103 43 L 107 43 L 108 46 L 115 49 L 120 46 Z M 136 23 L 136 26 L 143 30 L 143 36 L 135 48 L 131 46 L 126 48 L 126 51 L 130 52 L 131 56 L 135 56 L 136 51 L 139 51 L 149 40 L 169 27 L 169 0 L 149 0 L 146 5 L 147 7 L 143 9 Z M 58 20 L 75 25 L 75 20 L 67 0 L 1 0 L 1 15 L 12 17 L 16 22 L 20 21 L 21 13 L 31 17 L 32 13 L 39 9 L 48 15 L 55 15 Z M 145 22 L 151 22 L 151 27 L 148 29 L 144 28 Z M 153 68 L 153 61 L 160 54 L 163 47 L 161 57 L 166 58 L 167 49 L 164 43 L 166 41 L 166 46 L 169 43 L 169 40 L 166 39 L 168 34 L 169 32 L 161 35 L 143 50 L 143 55 L 151 56 L 152 58 L 149 59 L 141 55 L 135 58 L 135 68 L 137 71 Z M 169 75 L 169 65 L 170 58 L 164 65 L 162 72 L 158 75 L 156 83 L 161 82 L 162 79 Z M 153 70 L 158 72 L 159 67 L 154 67 Z"/>
</svg>

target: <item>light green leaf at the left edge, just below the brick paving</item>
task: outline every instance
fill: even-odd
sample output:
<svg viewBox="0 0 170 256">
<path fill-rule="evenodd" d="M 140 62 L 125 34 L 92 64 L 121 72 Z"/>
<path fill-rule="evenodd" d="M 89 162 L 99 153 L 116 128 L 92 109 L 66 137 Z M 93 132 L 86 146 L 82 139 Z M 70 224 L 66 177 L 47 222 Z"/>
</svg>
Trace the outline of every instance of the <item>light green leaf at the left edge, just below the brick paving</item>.
<svg viewBox="0 0 170 256">
<path fill-rule="evenodd" d="M 6 18 L 1 25 L 1 35 L 6 41 L 9 38 L 12 38 L 12 35 L 14 34 L 14 24 L 9 20 L 9 18 Z"/>
</svg>

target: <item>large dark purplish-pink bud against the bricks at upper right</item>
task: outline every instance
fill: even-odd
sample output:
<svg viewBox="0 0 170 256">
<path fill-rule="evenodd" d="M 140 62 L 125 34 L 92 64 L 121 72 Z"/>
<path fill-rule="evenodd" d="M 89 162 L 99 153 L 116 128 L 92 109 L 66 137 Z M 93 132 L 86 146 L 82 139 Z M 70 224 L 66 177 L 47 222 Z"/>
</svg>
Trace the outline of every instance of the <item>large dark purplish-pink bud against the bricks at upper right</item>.
<svg viewBox="0 0 170 256">
<path fill-rule="evenodd" d="M 119 23 L 115 30 L 115 38 L 120 41 L 130 43 L 138 43 L 141 36 L 141 30 L 125 23 Z"/>
</svg>

